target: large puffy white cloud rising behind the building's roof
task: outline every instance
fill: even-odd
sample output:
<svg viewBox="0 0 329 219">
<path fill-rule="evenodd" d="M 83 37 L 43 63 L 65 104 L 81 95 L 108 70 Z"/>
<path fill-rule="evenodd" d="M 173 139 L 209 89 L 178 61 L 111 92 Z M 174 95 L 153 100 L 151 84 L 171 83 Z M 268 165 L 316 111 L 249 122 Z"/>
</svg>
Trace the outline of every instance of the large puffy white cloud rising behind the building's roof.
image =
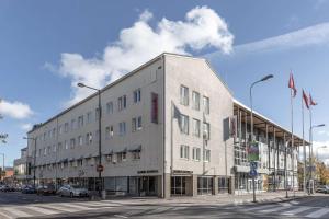
<svg viewBox="0 0 329 219">
<path fill-rule="evenodd" d="M 71 79 L 68 105 L 90 94 L 87 89 L 78 89 L 77 82 L 102 88 L 163 51 L 189 54 L 211 46 L 225 54 L 231 51 L 234 35 L 225 21 L 207 7 L 192 9 L 184 21 L 163 18 L 156 27 L 149 25 L 151 19 L 152 14 L 144 11 L 133 26 L 121 31 L 118 41 L 104 48 L 102 57 L 64 53 L 58 68 L 45 65 Z"/>
</svg>

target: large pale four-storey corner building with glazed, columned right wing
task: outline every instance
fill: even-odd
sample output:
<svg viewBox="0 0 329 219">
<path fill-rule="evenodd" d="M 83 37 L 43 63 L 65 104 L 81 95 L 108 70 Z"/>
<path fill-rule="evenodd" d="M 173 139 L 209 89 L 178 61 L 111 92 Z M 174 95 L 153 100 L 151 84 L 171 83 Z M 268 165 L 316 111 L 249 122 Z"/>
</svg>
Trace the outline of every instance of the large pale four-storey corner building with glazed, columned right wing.
<svg viewBox="0 0 329 219">
<path fill-rule="evenodd" d="M 29 131 L 29 154 L 35 154 L 39 183 L 75 183 L 90 189 L 102 183 L 109 193 L 160 197 L 250 188 L 246 160 L 250 112 L 234 100 L 205 59 L 162 54 L 106 85 L 100 95 L 101 111 L 98 94 L 90 95 Z M 268 154 L 269 145 L 269 158 L 280 159 L 271 163 L 262 155 L 261 173 L 275 173 L 273 182 L 279 183 L 281 153 L 274 151 L 280 151 L 279 139 L 288 131 L 254 116 L 274 127 L 275 136 L 268 131 L 264 141 L 258 137 L 263 128 L 254 126 L 262 152 Z M 100 134 L 102 182 L 97 172 Z M 297 146 L 300 139 L 295 138 Z M 263 175 L 259 189 L 271 184 Z"/>
</svg>

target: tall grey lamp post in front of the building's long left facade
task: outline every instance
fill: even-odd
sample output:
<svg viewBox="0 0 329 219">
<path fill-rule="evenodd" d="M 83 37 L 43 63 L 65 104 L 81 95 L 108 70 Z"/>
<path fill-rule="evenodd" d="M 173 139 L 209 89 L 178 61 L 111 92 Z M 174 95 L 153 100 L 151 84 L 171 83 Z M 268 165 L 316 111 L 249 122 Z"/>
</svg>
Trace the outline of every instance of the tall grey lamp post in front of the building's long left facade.
<svg viewBox="0 0 329 219">
<path fill-rule="evenodd" d="M 97 171 L 99 172 L 99 195 L 100 197 L 102 197 L 102 189 L 103 189 L 103 182 L 102 182 L 102 171 L 103 171 L 103 166 L 102 166 L 102 103 L 101 103 L 101 90 L 100 89 L 95 89 L 89 85 L 86 85 L 83 83 L 78 83 L 77 84 L 79 88 L 87 88 L 90 90 L 94 90 L 98 92 L 98 96 L 99 96 L 99 165 L 97 168 Z"/>
</svg>

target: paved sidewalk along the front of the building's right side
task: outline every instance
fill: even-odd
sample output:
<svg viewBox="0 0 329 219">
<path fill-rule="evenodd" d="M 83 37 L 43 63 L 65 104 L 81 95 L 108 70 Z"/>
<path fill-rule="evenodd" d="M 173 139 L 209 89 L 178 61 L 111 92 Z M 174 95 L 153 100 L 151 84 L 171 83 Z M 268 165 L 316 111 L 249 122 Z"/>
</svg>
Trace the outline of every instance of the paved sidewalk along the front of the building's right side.
<svg viewBox="0 0 329 219">
<path fill-rule="evenodd" d="M 288 201 L 298 198 L 307 197 L 308 195 L 304 192 L 295 192 L 295 196 L 293 192 L 288 192 L 288 198 L 285 197 L 285 191 L 280 192 L 264 192 L 256 194 L 257 203 L 281 203 Z M 230 194 L 219 194 L 219 195 L 201 195 L 201 196 L 185 196 L 185 197 L 171 197 L 168 199 L 162 198 L 107 198 L 107 201 L 113 201 L 123 205 L 139 205 L 139 204 L 148 204 L 148 205 L 241 205 L 241 204 L 253 204 L 252 203 L 252 194 L 242 194 L 242 195 L 230 195 Z"/>
</svg>

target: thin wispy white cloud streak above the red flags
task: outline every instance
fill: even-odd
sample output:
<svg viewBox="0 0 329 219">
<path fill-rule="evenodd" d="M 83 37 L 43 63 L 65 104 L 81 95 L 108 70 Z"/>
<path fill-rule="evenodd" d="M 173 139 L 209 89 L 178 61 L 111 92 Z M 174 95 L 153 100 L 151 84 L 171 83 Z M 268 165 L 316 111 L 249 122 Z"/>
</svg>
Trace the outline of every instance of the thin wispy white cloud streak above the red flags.
<svg viewBox="0 0 329 219">
<path fill-rule="evenodd" d="M 329 45 L 329 22 L 234 46 L 232 55 L 291 49 L 309 45 Z M 206 55 L 208 58 L 215 58 L 216 56 L 222 56 L 222 54 L 215 51 Z"/>
</svg>

